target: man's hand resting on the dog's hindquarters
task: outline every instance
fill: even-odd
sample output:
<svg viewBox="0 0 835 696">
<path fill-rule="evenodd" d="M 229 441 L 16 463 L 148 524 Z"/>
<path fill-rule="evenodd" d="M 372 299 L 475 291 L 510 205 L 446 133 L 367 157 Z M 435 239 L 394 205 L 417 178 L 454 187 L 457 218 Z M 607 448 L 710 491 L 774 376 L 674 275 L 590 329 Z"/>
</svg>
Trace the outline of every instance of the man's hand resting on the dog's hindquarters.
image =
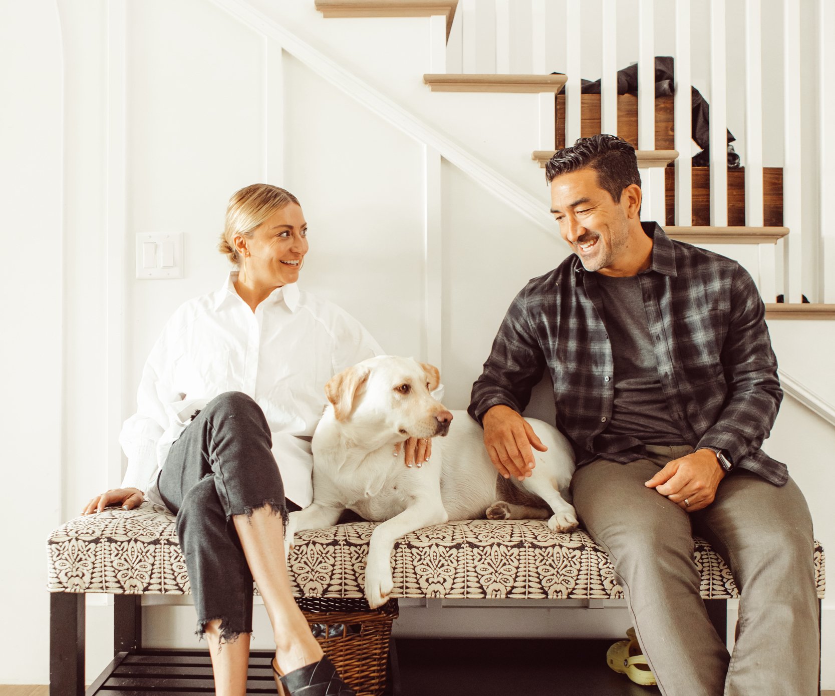
<svg viewBox="0 0 835 696">
<path fill-rule="evenodd" d="M 541 452 L 548 447 L 539 441 L 529 422 L 510 406 L 493 406 L 484 414 L 482 423 L 484 446 L 493 467 L 505 478 L 514 476 L 524 481 L 534 469 L 531 446 Z"/>
</svg>

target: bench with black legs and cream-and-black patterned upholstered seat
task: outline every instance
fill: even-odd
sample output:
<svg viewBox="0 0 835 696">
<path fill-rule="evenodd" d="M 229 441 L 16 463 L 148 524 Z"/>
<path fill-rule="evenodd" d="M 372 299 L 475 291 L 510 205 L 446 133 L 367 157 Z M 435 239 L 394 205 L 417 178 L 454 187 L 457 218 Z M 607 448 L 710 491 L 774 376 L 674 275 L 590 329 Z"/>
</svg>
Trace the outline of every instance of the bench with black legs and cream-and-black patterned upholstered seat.
<svg viewBox="0 0 835 696">
<path fill-rule="evenodd" d="M 371 522 L 352 522 L 298 534 L 290 557 L 296 596 L 362 598 L 373 528 Z M 701 539 L 696 539 L 694 560 L 701 572 L 701 596 L 722 632 L 725 600 L 738 597 L 736 584 L 725 562 Z M 814 564 L 822 598 L 819 544 Z M 142 594 L 190 593 L 175 518 L 149 502 L 128 512 L 110 509 L 77 517 L 58 527 L 48 539 L 48 566 L 50 693 L 61 696 L 83 693 L 84 593 L 114 595 L 117 658 L 141 647 Z M 556 534 L 543 520 L 473 520 L 427 527 L 398 540 L 392 596 L 594 600 L 624 594 L 609 557 L 583 531 Z M 106 677 L 103 673 L 99 683 Z M 171 688 L 181 685 L 172 683 Z"/>
</svg>

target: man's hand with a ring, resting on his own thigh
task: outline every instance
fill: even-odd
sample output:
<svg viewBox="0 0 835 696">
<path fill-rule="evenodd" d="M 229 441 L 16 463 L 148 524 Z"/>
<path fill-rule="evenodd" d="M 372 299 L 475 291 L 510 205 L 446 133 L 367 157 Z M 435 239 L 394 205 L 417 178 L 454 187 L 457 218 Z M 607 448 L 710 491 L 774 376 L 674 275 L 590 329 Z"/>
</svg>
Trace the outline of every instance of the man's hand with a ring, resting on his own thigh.
<svg viewBox="0 0 835 696">
<path fill-rule="evenodd" d="M 644 485 L 655 488 L 686 512 L 696 512 L 713 502 L 725 470 L 712 450 L 696 450 L 667 465 Z M 687 505 L 685 500 L 690 503 Z"/>
</svg>

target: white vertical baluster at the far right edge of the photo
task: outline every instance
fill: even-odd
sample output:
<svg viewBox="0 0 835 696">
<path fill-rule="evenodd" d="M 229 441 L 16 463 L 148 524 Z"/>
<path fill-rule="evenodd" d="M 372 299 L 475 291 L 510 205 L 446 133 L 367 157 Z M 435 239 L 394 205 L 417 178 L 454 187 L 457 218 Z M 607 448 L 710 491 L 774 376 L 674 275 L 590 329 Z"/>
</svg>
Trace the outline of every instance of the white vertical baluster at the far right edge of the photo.
<svg viewBox="0 0 835 696">
<path fill-rule="evenodd" d="M 823 262 L 823 297 L 824 302 L 835 304 L 835 134 L 830 124 L 835 123 L 835 5 L 819 3 L 818 22 L 821 61 L 820 87 L 817 90 L 820 100 L 818 123 L 820 125 L 820 158 L 818 172 L 820 176 L 821 201 L 821 245 Z M 785 224 L 785 223 L 784 223 Z M 792 232 L 789 232 L 791 235 Z M 811 298 L 810 298 L 811 299 Z"/>
</svg>

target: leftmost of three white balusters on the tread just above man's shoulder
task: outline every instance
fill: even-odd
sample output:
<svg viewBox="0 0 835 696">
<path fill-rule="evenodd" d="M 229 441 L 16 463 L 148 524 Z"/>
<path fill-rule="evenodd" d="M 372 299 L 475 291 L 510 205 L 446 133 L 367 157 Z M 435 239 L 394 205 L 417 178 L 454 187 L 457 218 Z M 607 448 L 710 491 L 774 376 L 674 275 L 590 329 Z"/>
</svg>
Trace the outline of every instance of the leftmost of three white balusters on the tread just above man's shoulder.
<svg viewBox="0 0 835 696">
<path fill-rule="evenodd" d="M 692 110 L 690 57 L 690 0 L 676 0 L 676 96 L 674 99 L 676 150 L 676 224 L 693 224 L 693 179 L 691 170 Z"/>
</svg>

